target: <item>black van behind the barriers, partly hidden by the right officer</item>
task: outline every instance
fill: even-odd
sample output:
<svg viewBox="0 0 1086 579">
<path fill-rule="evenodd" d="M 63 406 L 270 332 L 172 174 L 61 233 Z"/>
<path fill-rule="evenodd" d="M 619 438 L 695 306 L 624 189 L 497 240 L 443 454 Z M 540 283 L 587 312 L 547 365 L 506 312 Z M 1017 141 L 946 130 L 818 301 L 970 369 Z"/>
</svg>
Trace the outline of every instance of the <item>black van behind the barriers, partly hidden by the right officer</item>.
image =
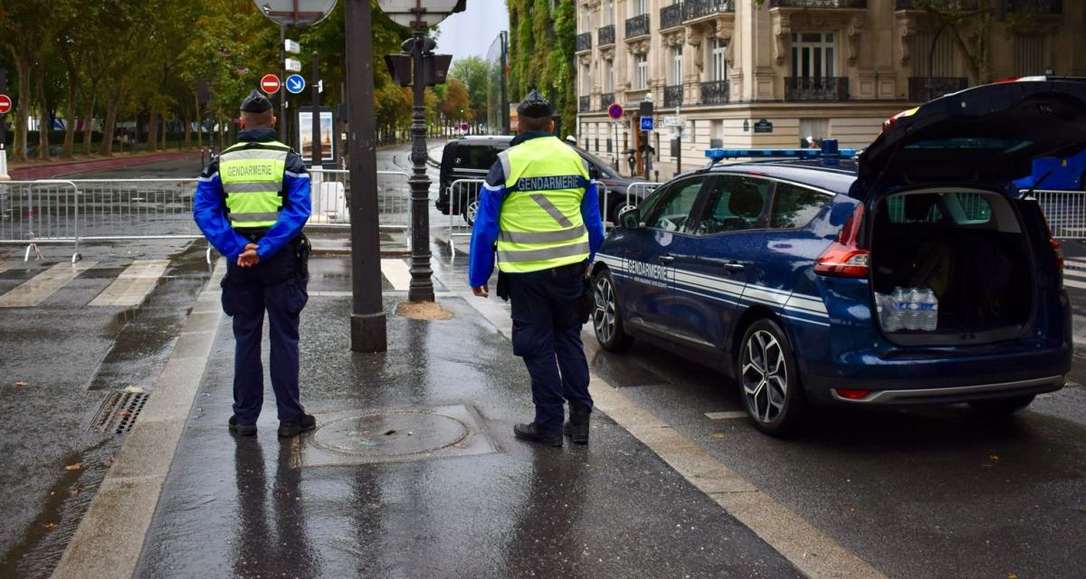
<svg viewBox="0 0 1086 579">
<path fill-rule="evenodd" d="M 485 179 L 491 165 L 497 161 L 497 153 L 509 148 L 513 137 L 501 135 L 489 135 L 478 137 L 464 137 L 451 140 L 445 144 L 441 154 L 441 177 L 438 201 L 434 206 L 445 215 L 459 214 L 464 221 L 471 225 L 475 223 L 475 213 L 478 209 L 478 188 L 458 188 L 453 196 L 450 196 L 450 187 L 458 179 Z M 618 214 L 626 207 L 627 188 L 634 179 L 619 176 L 606 162 L 592 153 L 569 144 L 589 164 L 589 176 L 599 181 L 610 191 L 606 196 L 607 206 L 604 207 L 604 188 L 599 190 L 601 213 L 605 221 L 618 222 Z M 648 194 L 642 189 L 635 194 Z M 452 197 L 452 199 L 451 199 Z M 640 201 L 640 199 L 639 199 Z"/>
</svg>

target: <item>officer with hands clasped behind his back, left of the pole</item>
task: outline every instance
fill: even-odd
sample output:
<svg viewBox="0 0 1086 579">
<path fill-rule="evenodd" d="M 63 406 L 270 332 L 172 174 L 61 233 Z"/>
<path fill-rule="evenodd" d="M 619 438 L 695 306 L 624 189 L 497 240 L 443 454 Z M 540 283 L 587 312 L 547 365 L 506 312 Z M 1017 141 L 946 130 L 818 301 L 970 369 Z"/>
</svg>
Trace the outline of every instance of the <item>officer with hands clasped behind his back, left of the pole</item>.
<svg viewBox="0 0 1086 579">
<path fill-rule="evenodd" d="M 299 401 L 299 316 L 308 298 L 310 176 L 302 159 L 277 142 L 272 102 L 252 91 L 241 103 L 238 143 L 200 176 L 193 217 L 227 259 L 223 311 L 233 317 L 233 416 L 230 431 L 256 433 L 264 404 L 261 336 L 267 312 L 272 389 L 279 436 L 316 428 Z"/>
</svg>

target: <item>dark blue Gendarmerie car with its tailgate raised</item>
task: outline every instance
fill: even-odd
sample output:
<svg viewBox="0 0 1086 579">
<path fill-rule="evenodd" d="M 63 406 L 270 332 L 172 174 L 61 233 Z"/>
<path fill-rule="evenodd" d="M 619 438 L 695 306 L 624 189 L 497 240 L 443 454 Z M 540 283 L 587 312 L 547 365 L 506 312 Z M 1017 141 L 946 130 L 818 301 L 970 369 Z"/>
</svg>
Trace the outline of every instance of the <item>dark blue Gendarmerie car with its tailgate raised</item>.
<svg viewBox="0 0 1086 579">
<path fill-rule="evenodd" d="M 1063 386 L 1073 348 L 1059 244 L 1012 180 L 1084 146 L 1086 83 L 1031 81 L 906 111 L 855 161 L 710 150 L 607 238 L 596 338 L 719 367 L 770 435 L 820 404 L 1009 414 Z"/>
</svg>

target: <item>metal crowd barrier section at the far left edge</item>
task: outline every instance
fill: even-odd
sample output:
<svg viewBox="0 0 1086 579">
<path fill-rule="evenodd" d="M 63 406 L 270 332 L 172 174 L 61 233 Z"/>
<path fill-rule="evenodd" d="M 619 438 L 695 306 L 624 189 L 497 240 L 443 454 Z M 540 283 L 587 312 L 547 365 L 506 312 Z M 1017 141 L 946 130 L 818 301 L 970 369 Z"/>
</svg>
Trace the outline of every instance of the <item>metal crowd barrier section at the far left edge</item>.
<svg viewBox="0 0 1086 579">
<path fill-rule="evenodd" d="M 72 243 L 79 259 L 79 189 L 70 180 L 0 181 L 0 243 L 26 246 L 39 259 L 38 243 Z"/>
</svg>

